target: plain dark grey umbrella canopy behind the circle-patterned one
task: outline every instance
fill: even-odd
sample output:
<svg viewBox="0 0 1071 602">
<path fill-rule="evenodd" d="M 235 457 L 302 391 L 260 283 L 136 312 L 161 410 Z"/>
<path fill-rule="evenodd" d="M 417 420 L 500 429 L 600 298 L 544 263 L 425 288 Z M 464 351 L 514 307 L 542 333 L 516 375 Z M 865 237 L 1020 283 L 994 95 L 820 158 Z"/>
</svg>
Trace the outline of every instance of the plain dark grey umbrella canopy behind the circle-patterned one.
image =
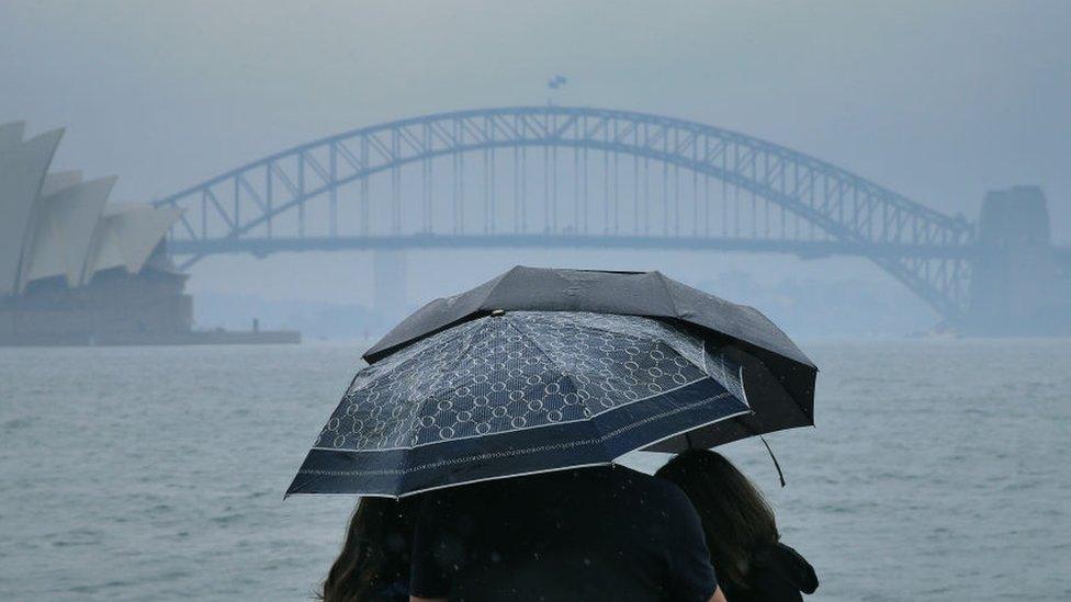
<svg viewBox="0 0 1071 602">
<path fill-rule="evenodd" d="M 661 442 L 651 451 L 712 447 L 737 439 L 814 424 L 818 367 L 757 309 L 698 291 L 659 272 L 601 272 L 517 266 L 469 292 L 436 299 L 387 332 L 371 364 L 446 328 L 495 309 L 594 311 L 674 320 L 744 366 L 754 413 Z"/>
</svg>

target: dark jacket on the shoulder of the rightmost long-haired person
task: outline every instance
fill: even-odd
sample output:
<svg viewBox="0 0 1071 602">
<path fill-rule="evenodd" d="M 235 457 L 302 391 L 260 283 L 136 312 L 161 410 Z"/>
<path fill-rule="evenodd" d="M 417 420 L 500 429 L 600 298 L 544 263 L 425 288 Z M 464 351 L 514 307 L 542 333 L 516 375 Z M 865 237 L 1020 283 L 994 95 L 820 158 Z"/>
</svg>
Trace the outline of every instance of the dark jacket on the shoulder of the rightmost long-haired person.
<svg viewBox="0 0 1071 602">
<path fill-rule="evenodd" d="M 721 588 L 731 602 L 798 602 L 802 593 L 814 593 L 819 578 L 814 567 L 782 543 L 756 550 L 747 569 L 747 587 L 723 580 Z"/>
</svg>

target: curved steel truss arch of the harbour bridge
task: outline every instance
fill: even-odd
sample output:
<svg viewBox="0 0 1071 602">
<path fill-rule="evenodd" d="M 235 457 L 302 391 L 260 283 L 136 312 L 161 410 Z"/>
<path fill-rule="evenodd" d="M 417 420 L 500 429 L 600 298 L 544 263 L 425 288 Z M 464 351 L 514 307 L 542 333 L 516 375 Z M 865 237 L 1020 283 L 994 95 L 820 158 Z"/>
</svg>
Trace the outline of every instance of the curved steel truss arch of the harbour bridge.
<svg viewBox="0 0 1071 602">
<path fill-rule="evenodd" d="M 764 248 L 801 253 L 809 243 L 825 240 L 828 243 L 812 247 L 869 258 L 947 319 L 955 320 L 966 310 L 973 227 L 965 219 L 936 212 L 799 151 L 714 126 L 646 113 L 528 106 L 401 120 L 283 150 L 156 204 L 187 209 L 169 239 L 172 252 L 190 255 L 184 265 L 215 252 L 325 248 L 323 238 L 305 237 L 303 226 L 297 237 L 273 237 L 272 220 L 289 212 L 303 212 L 314 200 L 326 198 L 334 211 L 340 188 L 368 182 L 377 173 L 397 173 L 404 166 L 430 166 L 430 161 L 441 157 L 533 147 L 594 150 L 604 152 L 604 157 L 632 156 L 720 180 L 822 232 L 822 240 L 786 237 L 781 222 L 780 240 L 768 237 Z M 361 202 L 367 211 L 369 198 Z M 401 206 L 395 209 L 395 203 L 401 202 L 392 198 L 382 203 L 391 204 L 388 224 L 370 225 L 365 219 L 362 230 L 349 237 L 351 246 L 500 246 L 543 241 L 556 246 L 734 248 L 732 240 L 709 232 L 681 236 L 678 230 L 669 236 L 665 230 L 659 236 L 636 229 L 621 234 L 616 228 L 611 231 L 607 223 L 601 231 L 590 234 L 586 228 L 560 229 L 556 220 L 553 228 L 544 225 L 541 234 L 517 226 L 505 232 L 462 237 L 454 225 L 450 232 L 454 236 L 432 238 L 427 236 L 435 234 L 428 223 L 431 207 L 426 207 L 422 216 L 425 227 L 406 232 L 401 215 L 395 217 L 395 211 L 401 212 Z M 706 211 L 709 218 L 710 207 Z M 332 223 L 328 240 L 340 239 L 334 230 Z"/>
</svg>

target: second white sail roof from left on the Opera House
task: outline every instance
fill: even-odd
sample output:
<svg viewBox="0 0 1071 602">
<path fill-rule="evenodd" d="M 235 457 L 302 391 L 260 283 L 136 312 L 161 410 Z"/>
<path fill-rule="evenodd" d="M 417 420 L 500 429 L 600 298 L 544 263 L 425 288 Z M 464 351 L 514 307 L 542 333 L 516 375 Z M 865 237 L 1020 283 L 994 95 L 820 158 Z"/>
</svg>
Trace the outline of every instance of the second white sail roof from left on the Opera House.
<svg viewBox="0 0 1071 602">
<path fill-rule="evenodd" d="M 66 276 L 68 286 L 82 283 L 86 258 L 115 180 L 101 178 L 66 186 L 37 201 L 30 269 L 20 292 L 30 281 L 53 276 Z"/>
</svg>

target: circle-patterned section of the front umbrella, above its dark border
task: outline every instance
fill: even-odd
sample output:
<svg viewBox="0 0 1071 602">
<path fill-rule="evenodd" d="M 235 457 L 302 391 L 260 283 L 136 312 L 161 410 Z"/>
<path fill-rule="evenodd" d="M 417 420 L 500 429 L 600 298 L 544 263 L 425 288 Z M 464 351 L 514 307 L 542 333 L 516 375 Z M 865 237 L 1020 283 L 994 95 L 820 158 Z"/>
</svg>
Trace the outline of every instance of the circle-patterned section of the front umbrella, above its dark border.
<svg viewBox="0 0 1071 602">
<path fill-rule="evenodd" d="M 600 413 L 735 366 L 678 327 L 634 316 L 511 311 L 465 322 L 359 372 L 317 447 L 382 451 Z"/>
</svg>

